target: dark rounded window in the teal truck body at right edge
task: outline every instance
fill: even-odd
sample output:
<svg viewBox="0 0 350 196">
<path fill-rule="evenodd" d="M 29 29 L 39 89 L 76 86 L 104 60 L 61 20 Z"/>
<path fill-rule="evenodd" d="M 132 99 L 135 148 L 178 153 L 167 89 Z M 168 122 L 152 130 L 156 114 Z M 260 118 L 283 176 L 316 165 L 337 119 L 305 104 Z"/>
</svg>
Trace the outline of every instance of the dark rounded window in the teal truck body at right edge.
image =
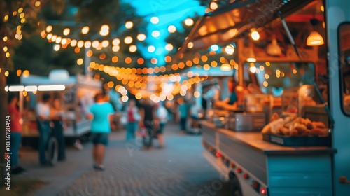
<svg viewBox="0 0 350 196">
<path fill-rule="evenodd" d="M 350 115 L 350 23 L 339 25 L 340 78 L 342 78 L 342 108 Z"/>
</svg>

